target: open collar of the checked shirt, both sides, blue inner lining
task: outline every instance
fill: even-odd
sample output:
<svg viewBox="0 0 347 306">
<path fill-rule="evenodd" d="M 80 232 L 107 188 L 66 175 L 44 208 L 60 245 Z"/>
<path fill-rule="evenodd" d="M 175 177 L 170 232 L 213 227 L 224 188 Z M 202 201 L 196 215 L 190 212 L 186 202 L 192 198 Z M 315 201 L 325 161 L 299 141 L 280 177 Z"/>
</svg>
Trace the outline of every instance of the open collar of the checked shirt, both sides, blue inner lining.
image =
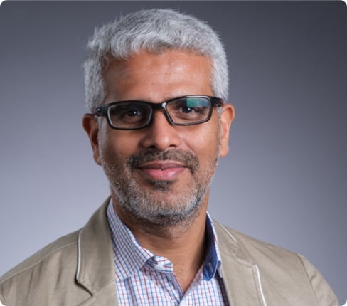
<svg viewBox="0 0 347 306">
<path fill-rule="evenodd" d="M 129 228 L 114 212 L 112 201 L 110 201 L 107 207 L 107 221 L 110 224 L 117 280 L 129 278 L 142 268 L 142 265 L 146 262 L 149 265 L 158 260 L 169 262 L 166 258 L 160 258 L 140 246 Z M 206 216 L 206 243 L 207 251 L 203 263 L 203 279 L 210 280 L 215 276 L 216 272 L 221 276 L 221 260 L 215 228 L 208 213 Z M 168 272 L 170 270 L 169 267 Z"/>
</svg>

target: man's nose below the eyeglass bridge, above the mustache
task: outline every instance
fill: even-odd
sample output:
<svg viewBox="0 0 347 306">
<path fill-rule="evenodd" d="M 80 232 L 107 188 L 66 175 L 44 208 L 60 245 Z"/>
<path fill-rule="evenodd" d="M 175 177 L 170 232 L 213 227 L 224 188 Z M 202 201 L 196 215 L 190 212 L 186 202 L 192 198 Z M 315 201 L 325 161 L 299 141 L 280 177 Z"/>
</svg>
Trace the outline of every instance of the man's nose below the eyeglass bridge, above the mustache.
<svg viewBox="0 0 347 306">
<path fill-rule="evenodd" d="M 164 110 L 155 110 L 151 125 L 144 128 L 141 146 L 144 149 L 157 149 L 165 152 L 181 144 L 180 130 L 166 119 Z"/>
</svg>

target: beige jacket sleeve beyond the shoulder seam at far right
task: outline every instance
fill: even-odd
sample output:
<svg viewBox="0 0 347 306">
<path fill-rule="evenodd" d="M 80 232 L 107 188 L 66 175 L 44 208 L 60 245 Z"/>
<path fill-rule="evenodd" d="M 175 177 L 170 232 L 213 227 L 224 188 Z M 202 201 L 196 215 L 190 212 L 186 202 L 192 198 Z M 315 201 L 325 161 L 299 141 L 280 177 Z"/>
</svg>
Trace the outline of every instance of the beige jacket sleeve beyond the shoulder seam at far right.
<svg viewBox="0 0 347 306">
<path fill-rule="evenodd" d="M 307 277 L 311 282 L 312 290 L 316 296 L 317 305 L 339 306 L 340 304 L 338 304 L 338 299 L 335 293 L 321 273 L 319 273 L 319 271 L 314 268 L 314 265 L 312 265 L 304 256 L 299 254 L 298 256 L 302 265 L 304 266 L 304 269 L 306 270 Z"/>
</svg>

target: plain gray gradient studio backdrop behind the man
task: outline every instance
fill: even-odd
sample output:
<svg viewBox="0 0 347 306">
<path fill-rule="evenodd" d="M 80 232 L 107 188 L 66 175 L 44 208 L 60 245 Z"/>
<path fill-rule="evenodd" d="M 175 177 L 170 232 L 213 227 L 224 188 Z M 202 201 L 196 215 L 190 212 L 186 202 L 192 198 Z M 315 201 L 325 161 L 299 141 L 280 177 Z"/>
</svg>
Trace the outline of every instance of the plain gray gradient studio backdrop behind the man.
<svg viewBox="0 0 347 306">
<path fill-rule="evenodd" d="M 337 1 L 10 2 L 0 8 L 0 274 L 85 224 L 109 194 L 81 127 L 96 25 L 146 7 L 225 42 L 231 150 L 214 218 L 304 254 L 347 298 L 347 8 Z"/>
</svg>

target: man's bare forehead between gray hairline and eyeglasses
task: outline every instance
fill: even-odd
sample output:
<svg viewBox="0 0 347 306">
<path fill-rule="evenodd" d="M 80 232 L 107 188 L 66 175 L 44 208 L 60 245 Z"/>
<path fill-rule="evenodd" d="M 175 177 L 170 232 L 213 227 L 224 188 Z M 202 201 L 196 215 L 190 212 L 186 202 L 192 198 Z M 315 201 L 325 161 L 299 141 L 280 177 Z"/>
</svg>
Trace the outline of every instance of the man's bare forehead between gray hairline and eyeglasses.
<svg viewBox="0 0 347 306">
<path fill-rule="evenodd" d="M 212 95 L 210 59 L 195 53 L 167 50 L 160 54 L 141 51 L 126 60 L 107 63 L 104 78 L 107 96 L 163 100 L 178 95 Z M 134 97 L 139 95 L 139 97 Z M 148 97 L 148 98 L 149 98 Z"/>
</svg>

